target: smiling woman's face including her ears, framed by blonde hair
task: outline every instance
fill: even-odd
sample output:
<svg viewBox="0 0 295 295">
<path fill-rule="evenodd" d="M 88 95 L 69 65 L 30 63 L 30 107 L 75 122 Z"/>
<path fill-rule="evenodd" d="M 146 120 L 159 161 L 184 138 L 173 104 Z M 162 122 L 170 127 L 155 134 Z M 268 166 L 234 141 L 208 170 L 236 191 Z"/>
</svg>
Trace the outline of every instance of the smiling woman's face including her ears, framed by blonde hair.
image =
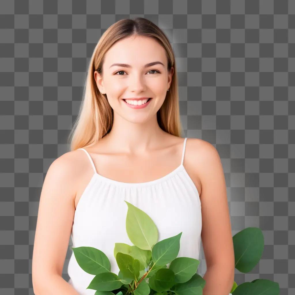
<svg viewBox="0 0 295 295">
<path fill-rule="evenodd" d="M 153 62 L 158 63 L 146 66 Z M 165 49 L 157 41 L 132 36 L 119 40 L 108 50 L 102 76 L 95 71 L 94 78 L 114 113 L 132 122 L 144 122 L 156 115 L 165 100 L 174 71 L 172 67 L 168 72 L 167 63 Z M 141 97 L 152 99 L 140 109 L 131 108 L 123 100 Z"/>
</svg>

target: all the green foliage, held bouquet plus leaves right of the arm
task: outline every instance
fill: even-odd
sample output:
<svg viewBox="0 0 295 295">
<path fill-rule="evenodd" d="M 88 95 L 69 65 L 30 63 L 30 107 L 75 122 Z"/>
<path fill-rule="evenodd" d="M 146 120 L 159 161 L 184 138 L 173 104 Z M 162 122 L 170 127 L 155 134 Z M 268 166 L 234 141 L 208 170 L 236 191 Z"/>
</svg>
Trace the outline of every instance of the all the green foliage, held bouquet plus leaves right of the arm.
<svg viewBox="0 0 295 295">
<path fill-rule="evenodd" d="M 196 273 L 199 260 L 177 257 L 182 232 L 158 241 L 158 230 L 153 220 L 134 205 L 128 206 L 126 232 L 133 246 L 115 243 L 114 257 L 120 269 L 111 272 L 107 256 L 93 247 L 71 249 L 78 265 L 95 275 L 86 289 L 95 295 L 202 295 L 206 281 Z M 261 230 L 248 227 L 233 236 L 235 268 L 248 273 L 259 262 L 264 248 Z M 167 264 L 170 263 L 169 268 Z M 232 295 L 278 295 L 276 282 L 256 279 L 239 286 L 234 281 Z"/>
</svg>

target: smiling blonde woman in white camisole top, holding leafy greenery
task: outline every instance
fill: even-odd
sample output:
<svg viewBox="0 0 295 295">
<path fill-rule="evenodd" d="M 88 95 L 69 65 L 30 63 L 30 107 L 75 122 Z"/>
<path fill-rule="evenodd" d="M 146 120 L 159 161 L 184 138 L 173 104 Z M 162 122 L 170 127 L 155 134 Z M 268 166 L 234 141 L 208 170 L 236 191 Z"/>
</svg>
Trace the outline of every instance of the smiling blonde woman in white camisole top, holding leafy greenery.
<svg viewBox="0 0 295 295">
<path fill-rule="evenodd" d="M 124 201 L 155 221 L 158 241 L 182 232 L 177 257 L 196 264 L 203 237 L 204 291 L 229 294 L 234 253 L 223 171 L 211 144 L 181 137 L 177 81 L 171 44 L 148 19 L 122 19 L 101 36 L 71 151 L 50 165 L 42 188 L 32 265 L 36 295 L 95 294 L 88 286 L 99 269 L 86 273 L 74 253 L 70 280 L 61 279 L 69 237 L 74 248 L 105 253 L 105 272 L 119 274 L 115 243 L 131 246 Z"/>
</svg>

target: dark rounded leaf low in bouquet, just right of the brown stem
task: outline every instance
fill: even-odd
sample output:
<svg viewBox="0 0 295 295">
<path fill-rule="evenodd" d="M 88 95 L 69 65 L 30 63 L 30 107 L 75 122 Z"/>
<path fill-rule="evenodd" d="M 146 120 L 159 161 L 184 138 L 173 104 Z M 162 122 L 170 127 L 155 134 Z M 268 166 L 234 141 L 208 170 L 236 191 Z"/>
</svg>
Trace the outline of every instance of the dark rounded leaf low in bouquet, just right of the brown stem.
<svg viewBox="0 0 295 295">
<path fill-rule="evenodd" d="M 172 286 L 174 286 L 174 278 L 173 271 L 169 268 L 161 268 L 149 279 L 149 285 L 157 292 L 168 291 Z"/>
</svg>

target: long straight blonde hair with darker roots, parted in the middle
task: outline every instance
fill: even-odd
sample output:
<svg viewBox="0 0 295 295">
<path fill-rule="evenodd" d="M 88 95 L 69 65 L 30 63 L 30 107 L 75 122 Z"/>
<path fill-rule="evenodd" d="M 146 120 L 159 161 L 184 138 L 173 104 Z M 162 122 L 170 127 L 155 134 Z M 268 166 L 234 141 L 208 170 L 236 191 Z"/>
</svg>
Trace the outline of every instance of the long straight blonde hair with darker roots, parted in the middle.
<svg viewBox="0 0 295 295">
<path fill-rule="evenodd" d="M 94 145 L 112 129 L 114 112 L 106 94 L 101 94 L 94 79 L 94 72 L 102 73 L 106 52 L 115 42 L 130 36 L 152 37 L 166 51 L 168 71 L 174 67 L 172 81 L 165 101 L 157 112 L 160 128 L 172 135 L 181 136 L 179 114 L 178 79 L 173 49 L 164 32 L 148 19 L 121 19 L 112 24 L 101 36 L 94 48 L 86 76 L 83 99 L 78 117 L 69 135 L 70 150 Z"/>
</svg>

